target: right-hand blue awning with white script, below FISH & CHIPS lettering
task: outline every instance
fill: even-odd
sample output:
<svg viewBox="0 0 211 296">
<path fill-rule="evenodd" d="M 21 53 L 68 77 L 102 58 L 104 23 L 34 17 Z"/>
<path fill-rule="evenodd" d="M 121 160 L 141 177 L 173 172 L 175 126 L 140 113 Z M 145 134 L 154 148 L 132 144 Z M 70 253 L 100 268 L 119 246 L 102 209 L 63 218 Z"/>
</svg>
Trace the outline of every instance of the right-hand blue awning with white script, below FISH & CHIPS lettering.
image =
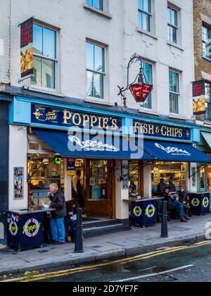
<svg viewBox="0 0 211 296">
<path fill-rule="evenodd" d="M 210 163 L 211 157 L 207 156 L 191 144 L 164 141 L 144 141 L 144 149 L 158 161 Z"/>
</svg>

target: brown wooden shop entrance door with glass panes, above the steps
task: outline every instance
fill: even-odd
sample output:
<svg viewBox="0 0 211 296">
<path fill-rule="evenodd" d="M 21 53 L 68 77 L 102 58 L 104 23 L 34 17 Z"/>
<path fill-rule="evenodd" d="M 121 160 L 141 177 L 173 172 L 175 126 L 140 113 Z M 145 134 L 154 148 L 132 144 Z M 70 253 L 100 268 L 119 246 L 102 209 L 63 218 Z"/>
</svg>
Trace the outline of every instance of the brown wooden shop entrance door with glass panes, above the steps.
<svg viewBox="0 0 211 296">
<path fill-rule="evenodd" d="M 115 218 L 113 161 L 87 161 L 85 209 L 88 218 Z"/>
</svg>

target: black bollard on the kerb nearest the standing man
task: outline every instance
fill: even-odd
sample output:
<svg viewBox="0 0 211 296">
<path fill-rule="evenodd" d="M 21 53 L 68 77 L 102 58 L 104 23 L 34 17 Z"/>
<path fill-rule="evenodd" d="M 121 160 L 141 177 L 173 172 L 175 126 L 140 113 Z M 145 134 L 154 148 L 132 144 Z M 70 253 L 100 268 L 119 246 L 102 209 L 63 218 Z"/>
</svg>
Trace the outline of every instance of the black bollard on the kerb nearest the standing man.
<svg viewBox="0 0 211 296">
<path fill-rule="evenodd" d="M 83 226 L 82 226 L 82 209 L 77 209 L 77 226 L 75 234 L 75 253 L 83 253 Z"/>
</svg>

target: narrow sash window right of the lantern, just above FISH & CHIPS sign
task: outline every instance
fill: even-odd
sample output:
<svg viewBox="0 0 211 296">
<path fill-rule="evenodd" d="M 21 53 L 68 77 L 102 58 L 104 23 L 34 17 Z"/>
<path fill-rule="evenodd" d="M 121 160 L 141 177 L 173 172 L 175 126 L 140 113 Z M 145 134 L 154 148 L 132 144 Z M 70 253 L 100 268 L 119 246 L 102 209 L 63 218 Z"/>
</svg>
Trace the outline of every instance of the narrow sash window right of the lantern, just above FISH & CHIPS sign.
<svg viewBox="0 0 211 296">
<path fill-rule="evenodd" d="M 179 114 L 179 73 L 170 70 L 170 113 Z"/>
</svg>

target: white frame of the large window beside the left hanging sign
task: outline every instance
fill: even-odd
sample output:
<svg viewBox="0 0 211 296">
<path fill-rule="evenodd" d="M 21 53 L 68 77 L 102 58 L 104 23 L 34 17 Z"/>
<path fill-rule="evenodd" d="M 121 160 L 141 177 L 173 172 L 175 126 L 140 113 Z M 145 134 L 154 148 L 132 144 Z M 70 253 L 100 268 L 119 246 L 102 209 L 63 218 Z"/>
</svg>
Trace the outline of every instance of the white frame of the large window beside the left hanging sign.
<svg viewBox="0 0 211 296">
<path fill-rule="evenodd" d="M 55 51 L 56 51 L 56 58 L 49 58 L 48 56 L 44 56 L 42 54 L 35 54 L 33 52 L 33 57 L 41 58 L 41 75 L 43 73 L 43 60 L 46 59 L 48 61 L 53 61 L 54 62 L 54 83 L 55 83 L 55 88 L 51 87 L 43 87 L 41 85 L 35 85 L 32 83 L 32 79 L 30 80 L 30 87 L 34 90 L 43 90 L 44 92 L 58 92 L 58 30 L 54 27 L 51 27 L 51 25 L 46 25 L 43 23 L 38 23 L 34 22 L 33 25 L 39 25 L 42 28 L 46 28 L 48 30 L 52 30 L 56 33 L 55 37 Z M 44 42 L 44 36 L 42 36 L 42 42 Z"/>
</svg>

